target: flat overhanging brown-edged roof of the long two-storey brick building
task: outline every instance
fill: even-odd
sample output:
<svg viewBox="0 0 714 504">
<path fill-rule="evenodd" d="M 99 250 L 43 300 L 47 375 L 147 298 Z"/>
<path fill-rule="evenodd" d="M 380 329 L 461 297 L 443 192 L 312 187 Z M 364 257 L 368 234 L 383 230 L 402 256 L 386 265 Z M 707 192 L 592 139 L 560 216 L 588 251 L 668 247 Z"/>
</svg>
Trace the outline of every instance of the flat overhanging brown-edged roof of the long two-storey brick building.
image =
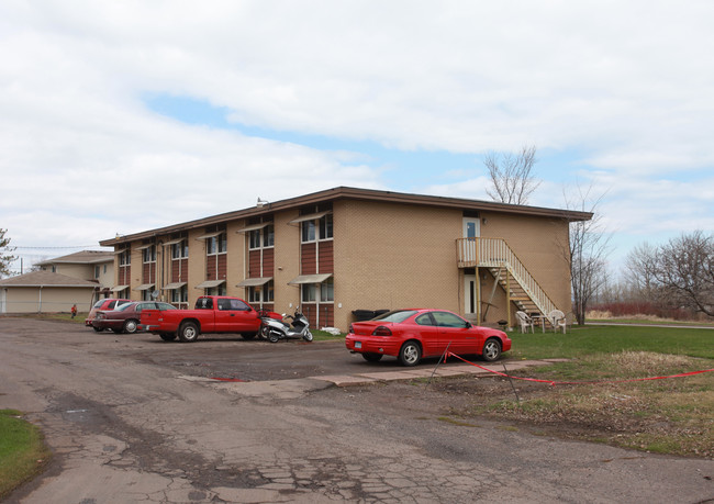
<svg viewBox="0 0 714 504">
<path fill-rule="evenodd" d="M 115 245 L 121 245 L 137 239 L 150 238 L 154 236 L 160 236 L 170 233 L 194 229 L 198 227 L 210 226 L 226 221 L 260 216 L 260 215 L 271 214 L 279 211 L 297 209 L 310 204 L 319 204 L 319 203 L 325 203 L 330 201 L 337 201 L 337 200 L 345 200 L 345 199 L 414 204 L 421 206 L 472 210 L 472 211 L 491 211 L 491 212 L 533 215 L 533 216 L 543 216 L 543 217 L 556 217 L 556 219 L 565 219 L 570 222 L 589 221 L 593 216 L 591 212 L 578 212 L 572 210 L 547 209 L 542 206 L 499 203 L 495 201 L 481 201 L 481 200 L 469 200 L 464 198 L 434 197 L 434 195 L 424 195 L 424 194 L 410 194 L 403 192 L 380 191 L 375 189 L 338 187 L 334 189 L 327 189 L 325 191 L 313 192 L 311 194 L 305 194 L 297 198 L 269 202 L 266 204 L 252 206 L 249 209 L 237 210 L 234 212 L 222 213 L 219 215 L 199 219 L 196 221 L 189 221 L 181 224 L 159 227 L 156 229 L 149 229 L 149 231 L 135 233 L 131 235 L 118 236 L 115 238 L 99 242 L 99 244 L 103 247 L 112 247 Z"/>
</svg>

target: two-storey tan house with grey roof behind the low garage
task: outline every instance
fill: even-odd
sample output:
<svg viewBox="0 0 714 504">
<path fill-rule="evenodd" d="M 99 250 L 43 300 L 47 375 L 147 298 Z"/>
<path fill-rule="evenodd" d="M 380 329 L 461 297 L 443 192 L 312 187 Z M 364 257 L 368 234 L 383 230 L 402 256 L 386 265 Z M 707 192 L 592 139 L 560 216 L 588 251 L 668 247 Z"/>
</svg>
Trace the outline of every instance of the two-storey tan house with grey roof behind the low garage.
<svg viewBox="0 0 714 504">
<path fill-rule="evenodd" d="M 97 298 L 109 298 L 114 285 L 114 253 L 82 250 L 36 262 L 43 271 L 97 282 Z"/>
</svg>

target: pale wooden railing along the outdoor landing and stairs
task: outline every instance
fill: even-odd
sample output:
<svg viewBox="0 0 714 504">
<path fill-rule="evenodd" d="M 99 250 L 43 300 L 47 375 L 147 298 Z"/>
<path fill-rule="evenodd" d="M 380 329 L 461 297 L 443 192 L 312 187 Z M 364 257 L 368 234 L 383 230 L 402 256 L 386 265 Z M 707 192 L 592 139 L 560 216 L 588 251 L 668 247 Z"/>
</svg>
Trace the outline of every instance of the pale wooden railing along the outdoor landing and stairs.
<svg viewBox="0 0 714 504">
<path fill-rule="evenodd" d="M 513 279 L 533 300 L 540 313 L 547 315 L 556 304 L 521 262 L 503 238 L 458 238 L 456 240 L 459 268 L 507 268 Z"/>
</svg>

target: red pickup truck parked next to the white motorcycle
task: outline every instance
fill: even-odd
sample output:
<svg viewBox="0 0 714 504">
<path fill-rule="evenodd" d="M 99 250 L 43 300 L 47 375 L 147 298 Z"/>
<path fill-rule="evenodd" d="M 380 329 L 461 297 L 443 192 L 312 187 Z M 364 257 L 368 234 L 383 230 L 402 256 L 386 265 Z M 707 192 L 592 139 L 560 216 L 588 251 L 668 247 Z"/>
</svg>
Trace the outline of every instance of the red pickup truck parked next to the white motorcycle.
<svg viewBox="0 0 714 504">
<path fill-rule="evenodd" d="M 142 325 L 161 339 L 196 341 L 201 333 L 239 333 L 250 339 L 260 331 L 259 312 L 238 298 L 203 295 L 194 310 L 144 310 Z"/>
</svg>

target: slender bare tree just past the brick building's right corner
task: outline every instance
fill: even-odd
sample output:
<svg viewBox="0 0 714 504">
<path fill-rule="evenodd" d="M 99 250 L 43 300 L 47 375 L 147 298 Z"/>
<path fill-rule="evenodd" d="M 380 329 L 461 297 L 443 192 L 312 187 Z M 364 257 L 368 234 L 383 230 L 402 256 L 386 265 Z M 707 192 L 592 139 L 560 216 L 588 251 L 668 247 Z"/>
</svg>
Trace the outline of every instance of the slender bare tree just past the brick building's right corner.
<svg viewBox="0 0 714 504">
<path fill-rule="evenodd" d="M 566 260 L 570 264 L 570 284 L 576 321 L 585 323 L 588 304 L 606 282 L 606 258 L 610 253 L 610 233 L 605 233 L 600 216 L 595 210 L 602 202 L 603 195 L 593 198 L 592 184 L 583 191 L 578 186 L 576 197 L 566 194 L 566 206 L 569 210 L 590 212 L 590 221 L 570 223 L 569 246 L 564 247 Z"/>
</svg>

